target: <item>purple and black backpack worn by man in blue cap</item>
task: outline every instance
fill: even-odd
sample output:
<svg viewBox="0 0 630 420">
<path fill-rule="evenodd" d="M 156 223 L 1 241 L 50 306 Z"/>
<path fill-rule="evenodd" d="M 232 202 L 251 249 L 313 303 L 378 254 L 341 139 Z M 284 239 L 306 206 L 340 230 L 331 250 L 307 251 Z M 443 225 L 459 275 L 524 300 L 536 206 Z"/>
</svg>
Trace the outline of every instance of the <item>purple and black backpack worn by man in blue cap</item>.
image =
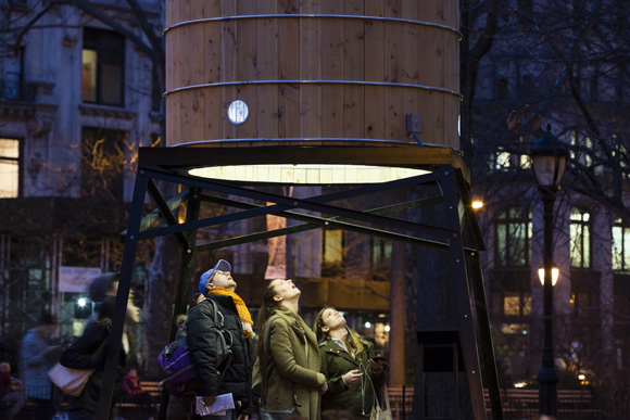
<svg viewBox="0 0 630 420">
<path fill-rule="evenodd" d="M 220 371 L 220 382 L 231 362 L 231 334 L 229 331 L 224 329 L 224 317 L 223 314 L 217 310 L 216 303 L 211 298 L 206 298 L 199 303 L 199 305 L 203 305 L 204 302 L 212 305 L 213 328 L 216 329 L 217 332 L 214 336 L 216 338 L 216 360 L 217 367 Z M 187 333 L 188 322 L 184 322 L 184 324 L 181 324 L 177 330 L 175 340 L 166 345 L 158 356 L 160 366 L 166 376 L 166 378 L 160 382 L 160 386 L 166 384 L 171 394 L 178 396 L 193 393 L 197 387 L 194 367 L 188 349 Z"/>
</svg>

